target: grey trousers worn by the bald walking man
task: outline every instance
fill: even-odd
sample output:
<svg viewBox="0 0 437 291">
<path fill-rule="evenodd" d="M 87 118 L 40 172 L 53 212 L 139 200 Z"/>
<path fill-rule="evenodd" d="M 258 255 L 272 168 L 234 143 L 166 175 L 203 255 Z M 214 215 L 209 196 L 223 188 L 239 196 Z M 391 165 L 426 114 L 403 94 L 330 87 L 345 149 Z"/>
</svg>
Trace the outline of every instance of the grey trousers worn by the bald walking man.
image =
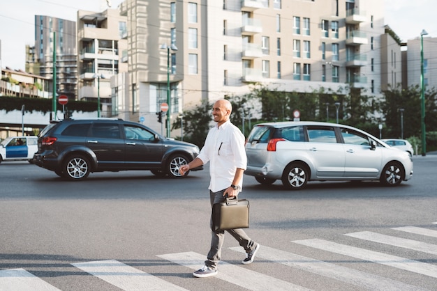
<svg viewBox="0 0 437 291">
<path fill-rule="evenodd" d="M 209 198 L 211 200 L 211 209 L 212 205 L 215 203 L 222 203 L 225 201 L 225 197 L 223 197 L 225 189 L 218 191 L 218 192 L 212 192 L 209 191 Z M 210 226 L 212 229 L 212 217 L 210 221 Z M 246 235 L 246 232 L 242 230 L 242 228 L 237 229 L 231 229 L 226 230 L 232 237 L 237 239 L 237 242 L 239 242 L 239 245 L 244 248 L 246 253 L 249 253 L 252 251 L 252 249 L 256 246 L 255 242 Z M 225 240 L 225 231 L 214 231 L 211 232 L 211 249 L 209 249 L 207 260 L 205 260 L 205 265 L 212 269 L 216 269 L 218 262 L 220 262 L 221 259 L 221 246 L 223 245 L 223 242 Z"/>
</svg>

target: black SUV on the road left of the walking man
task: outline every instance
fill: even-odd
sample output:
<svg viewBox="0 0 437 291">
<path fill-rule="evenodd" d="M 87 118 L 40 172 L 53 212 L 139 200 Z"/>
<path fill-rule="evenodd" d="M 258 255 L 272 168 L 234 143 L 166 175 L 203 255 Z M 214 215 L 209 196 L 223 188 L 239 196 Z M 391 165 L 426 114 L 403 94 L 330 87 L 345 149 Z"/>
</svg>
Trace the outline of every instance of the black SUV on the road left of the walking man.
<svg viewBox="0 0 437 291">
<path fill-rule="evenodd" d="M 66 119 L 50 123 L 40 132 L 33 162 L 75 181 L 87 178 L 90 172 L 127 170 L 181 178 L 179 166 L 198 154 L 198 146 L 167 139 L 139 123 Z"/>
</svg>

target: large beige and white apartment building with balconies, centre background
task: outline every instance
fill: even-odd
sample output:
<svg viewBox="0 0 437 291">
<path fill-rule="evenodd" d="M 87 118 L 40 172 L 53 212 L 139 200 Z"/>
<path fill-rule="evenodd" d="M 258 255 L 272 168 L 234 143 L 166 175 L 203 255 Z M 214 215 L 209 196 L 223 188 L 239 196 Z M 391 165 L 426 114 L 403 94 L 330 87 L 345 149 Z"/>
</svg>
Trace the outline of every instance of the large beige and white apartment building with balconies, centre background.
<svg viewBox="0 0 437 291">
<path fill-rule="evenodd" d="M 173 117 L 254 83 L 380 92 L 378 0 L 126 0 L 119 9 L 128 27 L 128 110 L 157 127 L 168 84 Z"/>
</svg>

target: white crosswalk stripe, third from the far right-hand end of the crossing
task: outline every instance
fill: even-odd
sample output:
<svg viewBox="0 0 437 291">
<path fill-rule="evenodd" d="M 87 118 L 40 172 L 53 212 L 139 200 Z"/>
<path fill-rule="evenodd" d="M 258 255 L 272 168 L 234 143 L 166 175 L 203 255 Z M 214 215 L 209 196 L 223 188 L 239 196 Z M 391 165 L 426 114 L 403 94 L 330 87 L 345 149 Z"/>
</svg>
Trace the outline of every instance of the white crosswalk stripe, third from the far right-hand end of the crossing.
<svg viewBox="0 0 437 291">
<path fill-rule="evenodd" d="M 304 246 L 310 246 L 315 249 L 339 253 L 352 258 L 376 262 L 381 265 L 387 265 L 409 272 L 437 278 L 437 266 L 419 262 L 417 260 L 409 260 L 407 258 L 397 257 L 395 255 L 387 255 L 385 253 L 378 253 L 377 251 L 360 249 L 355 246 L 347 246 L 346 244 L 337 244 L 335 242 L 329 242 L 323 239 L 303 239 L 295 240 L 293 242 L 296 244 L 302 244 Z"/>
</svg>

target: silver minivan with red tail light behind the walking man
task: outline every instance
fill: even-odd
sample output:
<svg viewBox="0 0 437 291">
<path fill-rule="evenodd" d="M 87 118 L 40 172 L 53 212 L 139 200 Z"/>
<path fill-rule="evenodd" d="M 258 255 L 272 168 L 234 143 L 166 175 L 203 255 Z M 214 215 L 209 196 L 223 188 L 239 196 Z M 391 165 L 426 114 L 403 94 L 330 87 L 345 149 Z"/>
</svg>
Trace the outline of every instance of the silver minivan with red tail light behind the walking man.
<svg viewBox="0 0 437 291">
<path fill-rule="evenodd" d="M 407 152 L 355 127 L 290 121 L 255 125 L 246 141 L 246 175 L 288 189 L 309 181 L 379 180 L 397 186 L 413 176 Z"/>
</svg>

